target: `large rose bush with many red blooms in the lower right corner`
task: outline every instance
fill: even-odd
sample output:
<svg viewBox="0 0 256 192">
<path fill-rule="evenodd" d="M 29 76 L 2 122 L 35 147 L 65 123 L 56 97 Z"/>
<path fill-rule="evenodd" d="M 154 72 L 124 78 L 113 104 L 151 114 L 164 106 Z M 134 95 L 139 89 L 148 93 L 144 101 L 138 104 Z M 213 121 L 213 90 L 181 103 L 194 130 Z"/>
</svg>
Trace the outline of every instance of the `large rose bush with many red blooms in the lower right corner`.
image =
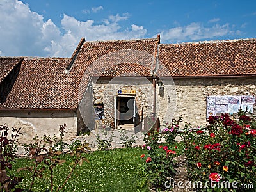
<svg viewBox="0 0 256 192">
<path fill-rule="evenodd" d="M 193 132 L 191 126 L 186 125 L 183 139 L 186 145 L 188 174 L 192 181 L 200 180 L 205 184 L 207 181 L 214 181 L 211 176 L 218 174 L 222 177 L 217 179 L 220 183 L 228 181 L 230 185 L 232 182 L 237 182 L 237 186 L 255 185 L 255 120 L 246 116 L 246 111 L 240 112 L 238 120 L 230 118 L 227 114 L 210 116 L 207 131 L 198 129 Z M 202 189 L 204 190 L 207 189 Z M 237 191 L 236 188 L 232 190 Z"/>
</svg>

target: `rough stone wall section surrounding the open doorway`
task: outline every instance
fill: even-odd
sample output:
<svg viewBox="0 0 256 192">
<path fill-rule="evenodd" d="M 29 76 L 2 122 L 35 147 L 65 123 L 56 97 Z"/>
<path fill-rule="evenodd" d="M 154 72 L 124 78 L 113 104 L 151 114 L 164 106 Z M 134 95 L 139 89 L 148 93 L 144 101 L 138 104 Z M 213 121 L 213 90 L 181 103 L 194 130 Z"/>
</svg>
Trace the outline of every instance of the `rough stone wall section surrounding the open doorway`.
<svg viewBox="0 0 256 192">
<path fill-rule="evenodd" d="M 153 111 L 153 90 L 152 80 L 146 78 L 124 78 L 115 77 L 109 79 L 97 79 L 97 82 L 93 83 L 93 102 L 94 104 L 103 103 L 105 119 L 104 124 L 110 127 L 114 127 L 115 118 L 115 99 L 118 96 L 118 90 L 131 89 L 136 90 L 134 96 L 137 104 L 138 111 L 143 111 L 143 116 L 150 115 Z M 127 96 L 127 95 L 126 95 Z"/>
</svg>

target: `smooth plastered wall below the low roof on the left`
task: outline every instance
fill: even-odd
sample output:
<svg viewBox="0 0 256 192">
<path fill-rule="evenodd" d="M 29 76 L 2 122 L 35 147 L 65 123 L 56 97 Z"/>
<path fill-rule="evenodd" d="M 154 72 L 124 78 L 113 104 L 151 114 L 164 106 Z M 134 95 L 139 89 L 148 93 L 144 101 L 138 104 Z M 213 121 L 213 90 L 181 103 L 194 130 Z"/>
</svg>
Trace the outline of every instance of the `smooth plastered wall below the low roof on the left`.
<svg viewBox="0 0 256 192">
<path fill-rule="evenodd" d="M 35 134 L 38 134 L 39 137 L 42 137 L 44 133 L 51 137 L 54 134 L 59 136 L 59 125 L 63 124 L 67 124 L 65 140 L 69 140 L 77 134 L 77 117 L 74 111 L 0 111 L 0 125 L 4 124 L 9 128 L 22 128 L 23 135 L 19 136 L 20 143 L 33 141 Z"/>
</svg>

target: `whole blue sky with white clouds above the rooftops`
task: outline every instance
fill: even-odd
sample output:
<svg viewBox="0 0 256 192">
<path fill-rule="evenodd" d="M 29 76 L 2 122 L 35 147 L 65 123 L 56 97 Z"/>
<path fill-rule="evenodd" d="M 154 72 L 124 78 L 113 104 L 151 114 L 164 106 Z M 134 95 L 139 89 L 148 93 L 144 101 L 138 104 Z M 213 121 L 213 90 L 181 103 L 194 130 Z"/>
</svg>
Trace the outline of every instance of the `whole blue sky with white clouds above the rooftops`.
<svg viewBox="0 0 256 192">
<path fill-rule="evenodd" d="M 256 1 L 0 0 L 0 56 L 70 57 L 79 40 L 255 38 Z"/>
</svg>

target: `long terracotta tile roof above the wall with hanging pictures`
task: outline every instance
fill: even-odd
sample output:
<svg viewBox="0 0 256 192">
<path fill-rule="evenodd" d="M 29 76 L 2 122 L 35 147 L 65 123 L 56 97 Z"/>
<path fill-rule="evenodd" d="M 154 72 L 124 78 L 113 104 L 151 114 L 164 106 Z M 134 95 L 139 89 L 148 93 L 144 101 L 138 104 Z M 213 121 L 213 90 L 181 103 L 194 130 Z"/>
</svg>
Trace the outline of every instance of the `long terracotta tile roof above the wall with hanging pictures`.
<svg viewBox="0 0 256 192">
<path fill-rule="evenodd" d="M 158 58 L 173 77 L 256 75 L 256 39 L 159 46 Z"/>
</svg>

